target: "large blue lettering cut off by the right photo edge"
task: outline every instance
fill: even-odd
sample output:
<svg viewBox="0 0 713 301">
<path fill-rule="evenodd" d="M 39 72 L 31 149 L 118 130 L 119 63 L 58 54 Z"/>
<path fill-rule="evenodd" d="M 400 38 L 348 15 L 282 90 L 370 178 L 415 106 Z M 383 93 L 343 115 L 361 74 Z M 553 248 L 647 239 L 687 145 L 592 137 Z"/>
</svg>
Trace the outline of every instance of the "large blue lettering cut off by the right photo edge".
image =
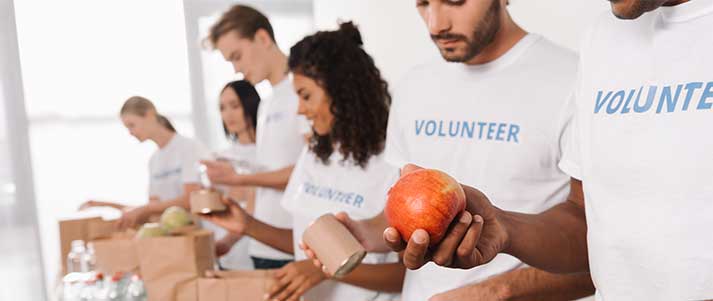
<svg viewBox="0 0 713 301">
<path fill-rule="evenodd" d="M 691 105 L 693 101 L 694 105 Z M 639 87 L 618 91 L 597 91 L 594 114 L 675 113 L 713 108 L 713 81 Z M 604 110 L 602 110 L 604 109 Z"/>
</svg>

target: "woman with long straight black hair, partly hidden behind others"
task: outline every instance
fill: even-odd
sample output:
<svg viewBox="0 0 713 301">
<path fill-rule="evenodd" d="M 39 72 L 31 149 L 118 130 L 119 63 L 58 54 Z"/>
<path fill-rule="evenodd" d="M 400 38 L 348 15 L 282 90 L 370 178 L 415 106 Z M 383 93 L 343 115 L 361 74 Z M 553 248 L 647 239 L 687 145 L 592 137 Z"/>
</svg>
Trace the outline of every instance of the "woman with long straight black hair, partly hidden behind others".
<svg viewBox="0 0 713 301">
<path fill-rule="evenodd" d="M 217 156 L 228 160 L 234 166 L 246 171 L 255 169 L 255 129 L 257 128 L 257 109 L 260 95 L 248 81 L 238 80 L 225 85 L 220 93 L 220 116 L 223 131 L 230 140 L 228 149 L 218 152 Z M 254 187 L 235 187 L 228 191 L 230 197 L 239 200 L 245 210 L 252 214 L 255 208 Z M 249 238 L 241 239 L 223 228 L 205 223 L 206 228 L 215 232 L 215 249 L 222 269 L 252 269 L 253 263 L 248 254 Z"/>
</svg>

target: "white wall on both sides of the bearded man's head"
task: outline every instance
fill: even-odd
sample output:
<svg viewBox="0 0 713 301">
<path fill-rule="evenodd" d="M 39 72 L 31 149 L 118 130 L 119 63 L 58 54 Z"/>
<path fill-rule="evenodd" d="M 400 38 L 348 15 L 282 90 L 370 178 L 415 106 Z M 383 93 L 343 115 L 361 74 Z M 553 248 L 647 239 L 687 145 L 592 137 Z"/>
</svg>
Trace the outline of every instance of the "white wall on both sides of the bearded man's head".
<svg viewBox="0 0 713 301">
<path fill-rule="evenodd" d="M 474 0 L 480 1 L 480 0 Z M 608 9 L 606 1 L 511 0 L 513 18 L 526 30 L 576 49 L 592 19 Z M 415 0 L 314 0 L 318 29 L 334 29 L 337 20 L 353 20 L 366 50 L 393 83 L 412 66 L 437 58 Z"/>
</svg>

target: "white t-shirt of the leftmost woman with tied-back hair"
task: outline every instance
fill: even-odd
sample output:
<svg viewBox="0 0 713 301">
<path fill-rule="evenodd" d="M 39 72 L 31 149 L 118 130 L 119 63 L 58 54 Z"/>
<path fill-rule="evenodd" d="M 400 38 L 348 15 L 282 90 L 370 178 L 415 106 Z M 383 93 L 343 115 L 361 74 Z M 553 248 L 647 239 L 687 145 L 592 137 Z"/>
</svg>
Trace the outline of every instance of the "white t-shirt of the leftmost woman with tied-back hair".
<svg viewBox="0 0 713 301">
<path fill-rule="evenodd" d="M 200 184 L 200 160 L 210 158 L 197 140 L 175 134 L 149 159 L 149 196 L 170 201 L 183 195 L 183 185 Z"/>
</svg>

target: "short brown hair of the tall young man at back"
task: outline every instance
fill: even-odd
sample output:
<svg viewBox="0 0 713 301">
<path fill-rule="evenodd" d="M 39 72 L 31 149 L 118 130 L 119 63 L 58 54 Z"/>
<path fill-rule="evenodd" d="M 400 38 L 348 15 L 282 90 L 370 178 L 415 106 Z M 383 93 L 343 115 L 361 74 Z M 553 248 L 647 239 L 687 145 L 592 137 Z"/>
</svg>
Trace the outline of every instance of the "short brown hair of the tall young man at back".
<svg viewBox="0 0 713 301">
<path fill-rule="evenodd" d="M 253 39 L 260 29 L 267 31 L 272 41 L 276 43 L 270 20 L 250 6 L 237 4 L 223 13 L 218 22 L 213 24 L 208 34 L 208 41 L 215 47 L 221 37 L 234 30 L 244 38 Z"/>
</svg>

